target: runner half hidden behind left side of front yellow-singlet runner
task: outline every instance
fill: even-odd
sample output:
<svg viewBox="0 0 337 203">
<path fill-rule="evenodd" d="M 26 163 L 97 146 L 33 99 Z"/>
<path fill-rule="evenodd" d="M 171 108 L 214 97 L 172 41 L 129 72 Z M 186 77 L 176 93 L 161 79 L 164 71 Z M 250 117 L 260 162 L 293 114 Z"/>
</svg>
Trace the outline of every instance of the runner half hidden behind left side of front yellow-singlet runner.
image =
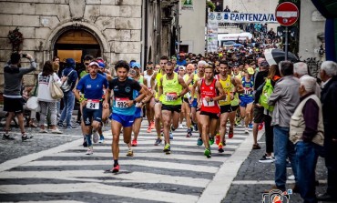
<svg viewBox="0 0 337 203">
<path fill-rule="evenodd" d="M 164 68 L 168 64 L 168 56 L 160 57 L 160 69 L 151 77 L 151 89 L 158 91 L 158 86 L 160 83 L 160 78 L 165 75 Z M 157 139 L 155 141 L 155 146 L 161 144 L 161 97 L 158 97 L 158 93 L 155 94 L 155 126 L 157 132 Z"/>
</svg>

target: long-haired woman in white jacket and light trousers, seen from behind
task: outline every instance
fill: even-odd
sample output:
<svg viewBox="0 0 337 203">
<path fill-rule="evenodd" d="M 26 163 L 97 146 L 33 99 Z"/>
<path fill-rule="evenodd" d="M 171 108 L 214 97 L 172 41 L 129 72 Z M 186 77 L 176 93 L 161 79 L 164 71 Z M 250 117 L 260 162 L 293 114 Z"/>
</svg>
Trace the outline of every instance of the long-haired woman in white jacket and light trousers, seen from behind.
<svg viewBox="0 0 337 203">
<path fill-rule="evenodd" d="M 63 78 L 65 80 L 66 78 Z M 50 124 L 51 132 L 55 134 L 62 134 L 62 132 L 56 127 L 56 102 L 57 100 L 51 97 L 49 86 L 53 82 L 61 86 L 62 82 L 56 75 L 53 69 L 53 64 L 50 61 L 46 61 L 42 73 L 37 76 L 38 80 L 38 92 L 37 99 L 41 107 L 40 114 L 40 133 L 47 133 L 45 129 L 46 114 L 50 111 Z"/>
</svg>

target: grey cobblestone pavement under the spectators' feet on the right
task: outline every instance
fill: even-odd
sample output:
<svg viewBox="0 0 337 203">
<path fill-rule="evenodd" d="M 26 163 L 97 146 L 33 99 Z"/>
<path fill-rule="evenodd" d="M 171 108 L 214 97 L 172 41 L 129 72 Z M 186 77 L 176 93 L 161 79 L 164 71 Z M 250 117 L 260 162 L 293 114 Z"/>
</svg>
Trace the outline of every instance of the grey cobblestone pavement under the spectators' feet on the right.
<svg viewBox="0 0 337 203">
<path fill-rule="evenodd" d="M 261 202 L 263 191 L 271 189 L 274 185 L 275 165 L 259 162 L 259 159 L 265 153 L 264 140 L 264 136 L 260 138 L 261 149 L 252 150 L 249 157 L 243 162 L 222 203 Z M 291 176 L 291 169 L 287 169 L 287 173 L 288 176 Z M 317 194 L 325 192 L 326 177 L 327 171 L 324 166 L 324 159 L 320 157 L 316 167 L 316 179 L 320 182 L 320 185 L 316 188 Z M 287 180 L 287 188 L 292 188 L 293 185 L 293 180 Z M 290 202 L 302 202 L 301 196 L 292 194 Z"/>
</svg>

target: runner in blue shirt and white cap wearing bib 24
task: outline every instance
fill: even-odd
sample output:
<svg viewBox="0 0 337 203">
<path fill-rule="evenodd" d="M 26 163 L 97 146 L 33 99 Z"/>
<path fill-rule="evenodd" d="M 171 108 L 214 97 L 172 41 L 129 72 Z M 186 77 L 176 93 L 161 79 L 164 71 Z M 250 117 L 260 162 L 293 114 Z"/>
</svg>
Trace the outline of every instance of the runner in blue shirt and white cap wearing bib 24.
<svg viewBox="0 0 337 203">
<path fill-rule="evenodd" d="M 85 124 L 84 132 L 87 138 L 87 155 L 93 154 L 93 145 L 91 142 L 92 129 L 97 131 L 102 122 L 102 96 L 103 88 L 108 86 L 107 78 L 98 73 L 98 63 L 93 61 L 89 64 L 89 74 L 83 76 L 77 84 L 75 96 L 81 103 L 82 117 Z M 83 90 L 84 97 L 79 95 Z M 94 138 L 94 142 L 97 139 Z"/>
</svg>

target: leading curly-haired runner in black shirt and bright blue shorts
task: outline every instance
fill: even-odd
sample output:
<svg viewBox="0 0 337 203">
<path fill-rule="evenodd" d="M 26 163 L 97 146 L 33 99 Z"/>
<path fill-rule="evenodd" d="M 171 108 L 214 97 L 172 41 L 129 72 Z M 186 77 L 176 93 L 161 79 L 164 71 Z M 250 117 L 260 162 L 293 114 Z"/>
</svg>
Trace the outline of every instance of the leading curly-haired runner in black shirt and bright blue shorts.
<svg viewBox="0 0 337 203">
<path fill-rule="evenodd" d="M 111 90 L 113 90 L 115 99 L 113 101 L 113 115 L 111 122 L 111 131 L 113 136 L 111 150 L 114 158 L 112 172 L 117 173 L 119 171 L 119 134 L 121 128 L 123 127 L 124 142 L 128 144 L 131 141 L 132 125 L 135 120 L 135 105 L 146 95 L 145 89 L 141 87 L 137 81 L 128 78 L 129 66 L 126 61 L 118 61 L 115 65 L 115 70 L 117 72 L 117 78 L 108 82 L 104 107 L 108 107 Z M 139 92 L 139 96 L 137 96 L 137 98 L 133 97 L 134 90 Z"/>
</svg>

